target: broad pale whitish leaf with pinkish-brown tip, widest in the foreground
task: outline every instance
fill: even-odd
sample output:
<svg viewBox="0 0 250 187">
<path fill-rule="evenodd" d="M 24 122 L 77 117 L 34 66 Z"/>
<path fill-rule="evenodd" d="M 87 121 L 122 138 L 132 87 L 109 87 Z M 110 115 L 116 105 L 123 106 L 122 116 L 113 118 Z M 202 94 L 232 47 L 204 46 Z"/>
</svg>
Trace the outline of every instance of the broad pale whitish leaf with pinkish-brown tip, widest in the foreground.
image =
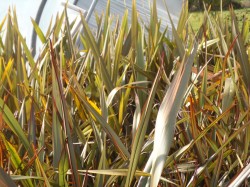
<svg viewBox="0 0 250 187">
<path fill-rule="evenodd" d="M 168 155 L 174 137 L 176 116 L 188 86 L 197 49 L 198 43 L 195 42 L 191 54 L 187 58 L 184 58 L 159 108 L 155 125 L 150 186 L 157 186 L 160 180 L 166 156 Z"/>
</svg>

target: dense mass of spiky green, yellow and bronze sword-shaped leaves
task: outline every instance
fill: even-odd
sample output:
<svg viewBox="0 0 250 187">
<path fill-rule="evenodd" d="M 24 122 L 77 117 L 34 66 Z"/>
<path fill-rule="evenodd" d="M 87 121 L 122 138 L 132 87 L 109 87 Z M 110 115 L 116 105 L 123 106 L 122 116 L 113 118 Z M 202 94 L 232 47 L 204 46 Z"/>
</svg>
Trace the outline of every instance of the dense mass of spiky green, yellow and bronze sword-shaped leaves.
<svg viewBox="0 0 250 187">
<path fill-rule="evenodd" d="M 204 10 L 194 30 L 185 4 L 169 37 L 155 1 L 148 25 L 132 4 L 111 29 L 108 1 L 95 34 L 66 9 L 33 22 L 37 57 L 15 12 L 1 22 L 1 185 L 249 185 L 248 22 Z"/>
</svg>

